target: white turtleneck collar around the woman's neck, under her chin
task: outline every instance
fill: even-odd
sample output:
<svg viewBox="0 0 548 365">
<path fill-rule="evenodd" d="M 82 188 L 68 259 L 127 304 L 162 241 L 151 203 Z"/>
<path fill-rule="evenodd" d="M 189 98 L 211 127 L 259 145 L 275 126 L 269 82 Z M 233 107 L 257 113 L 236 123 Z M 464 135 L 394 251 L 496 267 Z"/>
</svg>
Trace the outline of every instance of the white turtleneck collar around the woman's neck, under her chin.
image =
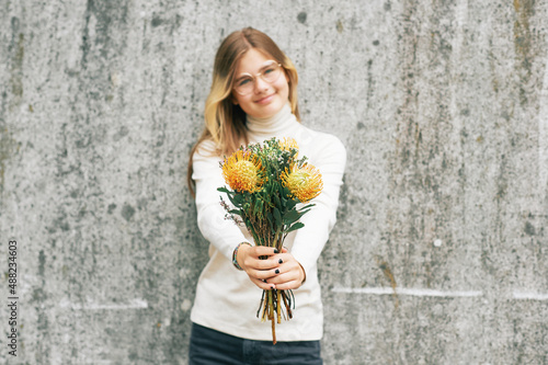
<svg viewBox="0 0 548 365">
<path fill-rule="evenodd" d="M 285 136 L 295 125 L 297 118 L 292 113 L 289 103 L 286 103 L 279 112 L 266 118 L 247 116 L 247 127 L 251 135 L 256 137 L 281 137 Z"/>
</svg>

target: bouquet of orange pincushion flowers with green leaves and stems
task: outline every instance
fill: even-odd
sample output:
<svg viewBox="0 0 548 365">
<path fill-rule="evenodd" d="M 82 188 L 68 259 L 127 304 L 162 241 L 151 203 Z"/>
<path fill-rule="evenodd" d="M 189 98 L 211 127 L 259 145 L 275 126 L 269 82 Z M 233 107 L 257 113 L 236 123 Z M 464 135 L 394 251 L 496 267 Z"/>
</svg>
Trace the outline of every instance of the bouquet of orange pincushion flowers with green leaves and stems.
<svg viewBox="0 0 548 365">
<path fill-rule="evenodd" d="M 244 225 L 255 244 L 282 252 L 287 233 L 302 228 L 299 221 L 323 187 L 317 168 L 298 158 L 295 139 L 272 138 L 262 144 L 240 147 L 220 163 L 222 176 L 230 189 L 219 187 L 232 206 L 222 201 L 227 217 Z M 301 203 L 301 204 L 299 204 Z M 275 322 L 293 318 L 292 290 L 263 290 L 258 318 L 272 322 L 272 340 L 276 343 Z"/>
</svg>

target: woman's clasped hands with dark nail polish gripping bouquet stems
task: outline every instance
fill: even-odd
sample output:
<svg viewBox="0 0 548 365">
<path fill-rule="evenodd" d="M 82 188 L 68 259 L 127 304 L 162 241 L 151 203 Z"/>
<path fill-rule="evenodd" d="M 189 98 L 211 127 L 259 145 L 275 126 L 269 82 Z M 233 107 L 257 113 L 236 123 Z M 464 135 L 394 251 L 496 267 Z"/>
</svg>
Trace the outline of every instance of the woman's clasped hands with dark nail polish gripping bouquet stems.
<svg viewBox="0 0 548 365">
<path fill-rule="evenodd" d="M 253 284 L 262 289 L 296 289 L 305 282 L 302 266 L 287 249 L 275 253 L 275 249 L 264 246 L 242 244 L 238 249 L 238 264 L 246 271 Z M 266 260 L 259 259 L 267 256 Z"/>
</svg>

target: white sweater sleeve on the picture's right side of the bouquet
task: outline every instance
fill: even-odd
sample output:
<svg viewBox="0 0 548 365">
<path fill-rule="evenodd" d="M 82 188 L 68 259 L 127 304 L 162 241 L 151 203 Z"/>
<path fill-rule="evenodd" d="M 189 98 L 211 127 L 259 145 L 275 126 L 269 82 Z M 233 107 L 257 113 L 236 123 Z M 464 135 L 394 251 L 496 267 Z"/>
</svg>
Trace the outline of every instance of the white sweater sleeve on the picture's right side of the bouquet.
<svg viewBox="0 0 548 365">
<path fill-rule="evenodd" d="M 346 149 L 339 138 L 332 136 L 329 145 L 317 148 L 320 152 L 310 162 L 320 170 L 323 189 L 320 195 L 311 201 L 316 205 L 300 218 L 305 227 L 297 230 L 292 249 L 292 254 L 306 273 L 316 266 L 336 221 L 339 192 L 346 164 Z"/>
</svg>

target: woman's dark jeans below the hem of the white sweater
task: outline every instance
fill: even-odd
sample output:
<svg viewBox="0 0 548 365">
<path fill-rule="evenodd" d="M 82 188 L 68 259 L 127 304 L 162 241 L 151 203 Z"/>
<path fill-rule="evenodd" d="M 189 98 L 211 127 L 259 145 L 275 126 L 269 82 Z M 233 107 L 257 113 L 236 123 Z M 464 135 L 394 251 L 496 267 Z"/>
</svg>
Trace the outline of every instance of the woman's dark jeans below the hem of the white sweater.
<svg viewBox="0 0 548 365">
<path fill-rule="evenodd" d="M 320 341 L 277 342 L 236 338 L 192 324 L 189 365 L 322 365 Z"/>
</svg>

